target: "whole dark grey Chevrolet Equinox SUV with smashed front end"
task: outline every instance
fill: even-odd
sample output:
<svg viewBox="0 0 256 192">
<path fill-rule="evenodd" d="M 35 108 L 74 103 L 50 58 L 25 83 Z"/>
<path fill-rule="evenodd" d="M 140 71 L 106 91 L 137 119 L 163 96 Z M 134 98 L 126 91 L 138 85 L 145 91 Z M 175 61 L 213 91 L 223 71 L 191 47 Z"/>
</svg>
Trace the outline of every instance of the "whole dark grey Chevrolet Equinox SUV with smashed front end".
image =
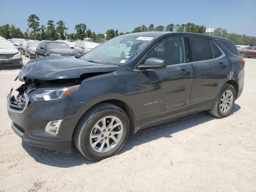
<svg viewBox="0 0 256 192">
<path fill-rule="evenodd" d="M 120 51 L 121 49 L 121 51 Z M 244 86 L 233 41 L 185 32 L 115 37 L 81 57 L 30 60 L 7 96 L 27 144 L 90 160 L 116 154 L 129 133 L 201 111 L 228 116 Z"/>
</svg>

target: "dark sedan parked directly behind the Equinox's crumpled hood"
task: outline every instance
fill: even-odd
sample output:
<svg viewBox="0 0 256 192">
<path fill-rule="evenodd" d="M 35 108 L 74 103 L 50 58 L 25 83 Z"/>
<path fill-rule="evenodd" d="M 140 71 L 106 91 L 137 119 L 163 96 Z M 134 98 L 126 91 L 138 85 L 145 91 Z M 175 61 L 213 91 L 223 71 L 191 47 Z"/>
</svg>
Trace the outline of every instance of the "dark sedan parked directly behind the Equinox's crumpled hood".
<svg viewBox="0 0 256 192">
<path fill-rule="evenodd" d="M 79 56 L 79 53 L 72 48 L 65 42 L 44 41 L 36 48 L 36 58 L 45 56 Z"/>
</svg>

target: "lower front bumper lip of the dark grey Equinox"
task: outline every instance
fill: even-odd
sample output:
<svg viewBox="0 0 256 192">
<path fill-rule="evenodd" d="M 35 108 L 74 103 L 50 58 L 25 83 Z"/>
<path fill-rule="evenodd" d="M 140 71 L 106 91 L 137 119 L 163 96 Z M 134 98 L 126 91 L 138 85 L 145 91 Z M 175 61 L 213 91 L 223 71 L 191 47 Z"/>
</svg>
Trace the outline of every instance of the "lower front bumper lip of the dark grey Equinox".
<svg viewBox="0 0 256 192">
<path fill-rule="evenodd" d="M 65 139 L 65 140 L 48 140 L 48 139 L 40 139 L 34 138 L 30 136 L 23 128 L 12 122 L 12 130 L 22 138 L 24 142 L 29 145 L 57 150 L 62 153 L 70 153 L 71 152 L 71 140 L 72 139 Z"/>
</svg>

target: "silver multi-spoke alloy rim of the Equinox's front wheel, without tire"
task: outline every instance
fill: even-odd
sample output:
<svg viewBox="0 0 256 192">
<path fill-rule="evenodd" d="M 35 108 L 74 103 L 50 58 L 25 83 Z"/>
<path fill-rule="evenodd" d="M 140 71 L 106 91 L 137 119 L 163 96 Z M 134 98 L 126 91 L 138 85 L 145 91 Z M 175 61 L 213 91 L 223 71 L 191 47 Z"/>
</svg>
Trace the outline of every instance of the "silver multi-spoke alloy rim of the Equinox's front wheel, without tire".
<svg viewBox="0 0 256 192">
<path fill-rule="evenodd" d="M 106 116 L 98 120 L 90 133 L 90 146 L 98 153 L 114 149 L 123 135 L 123 124 L 116 116 Z"/>
</svg>

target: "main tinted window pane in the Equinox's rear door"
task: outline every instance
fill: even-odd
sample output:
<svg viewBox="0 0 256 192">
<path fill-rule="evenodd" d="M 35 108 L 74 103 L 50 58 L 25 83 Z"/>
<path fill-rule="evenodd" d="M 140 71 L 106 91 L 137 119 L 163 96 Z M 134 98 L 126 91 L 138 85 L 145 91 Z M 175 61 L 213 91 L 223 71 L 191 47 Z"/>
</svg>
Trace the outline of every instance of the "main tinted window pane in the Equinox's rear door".
<svg viewBox="0 0 256 192">
<path fill-rule="evenodd" d="M 213 59 L 211 42 L 205 38 L 190 37 L 193 61 Z"/>
</svg>

